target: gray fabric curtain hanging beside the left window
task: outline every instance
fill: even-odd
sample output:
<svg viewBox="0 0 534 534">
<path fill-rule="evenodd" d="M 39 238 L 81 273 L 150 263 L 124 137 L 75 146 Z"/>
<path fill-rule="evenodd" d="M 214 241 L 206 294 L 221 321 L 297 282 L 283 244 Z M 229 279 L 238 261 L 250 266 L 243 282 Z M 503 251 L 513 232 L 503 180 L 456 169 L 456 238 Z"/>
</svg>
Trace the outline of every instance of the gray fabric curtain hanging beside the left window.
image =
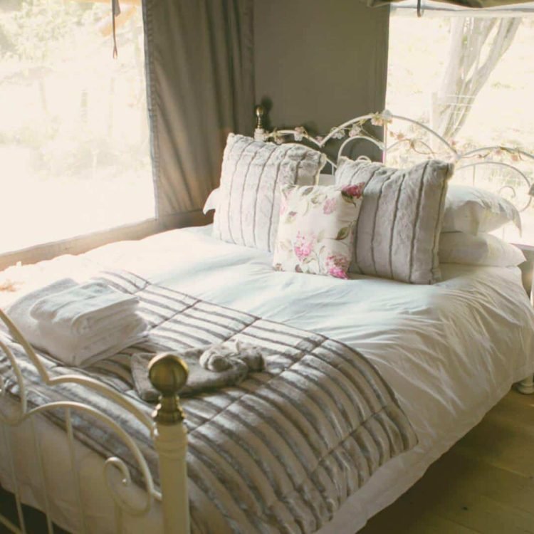
<svg viewBox="0 0 534 534">
<path fill-rule="evenodd" d="M 157 216 L 198 213 L 229 132 L 253 129 L 252 0 L 144 0 Z M 180 215 L 181 214 L 181 215 Z"/>
</svg>

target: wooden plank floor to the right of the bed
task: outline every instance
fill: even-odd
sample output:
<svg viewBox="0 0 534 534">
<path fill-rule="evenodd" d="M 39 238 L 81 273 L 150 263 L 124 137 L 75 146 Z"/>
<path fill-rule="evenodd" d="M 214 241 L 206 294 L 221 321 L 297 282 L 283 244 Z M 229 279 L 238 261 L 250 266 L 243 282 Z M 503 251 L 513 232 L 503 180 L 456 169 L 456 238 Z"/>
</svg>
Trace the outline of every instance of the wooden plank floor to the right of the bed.
<svg viewBox="0 0 534 534">
<path fill-rule="evenodd" d="M 9 507 L 1 493 L 0 503 L 4 511 Z M 28 531 L 46 532 L 38 514 Z M 510 392 L 413 488 L 360 530 L 473 533 L 534 534 L 534 395 Z"/>
</svg>

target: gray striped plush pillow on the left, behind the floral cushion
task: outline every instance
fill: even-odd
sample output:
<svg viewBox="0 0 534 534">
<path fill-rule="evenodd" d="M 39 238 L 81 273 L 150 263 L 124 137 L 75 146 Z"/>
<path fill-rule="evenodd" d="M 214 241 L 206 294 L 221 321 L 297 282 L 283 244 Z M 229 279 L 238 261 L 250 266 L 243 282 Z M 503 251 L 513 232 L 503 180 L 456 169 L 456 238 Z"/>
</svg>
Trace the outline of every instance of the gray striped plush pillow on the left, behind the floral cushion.
<svg viewBox="0 0 534 534">
<path fill-rule="evenodd" d="M 230 134 L 224 149 L 214 236 L 272 251 L 281 186 L 318 177 L 326 157 L 303 145 L 255 141 Z"/>
</svg>

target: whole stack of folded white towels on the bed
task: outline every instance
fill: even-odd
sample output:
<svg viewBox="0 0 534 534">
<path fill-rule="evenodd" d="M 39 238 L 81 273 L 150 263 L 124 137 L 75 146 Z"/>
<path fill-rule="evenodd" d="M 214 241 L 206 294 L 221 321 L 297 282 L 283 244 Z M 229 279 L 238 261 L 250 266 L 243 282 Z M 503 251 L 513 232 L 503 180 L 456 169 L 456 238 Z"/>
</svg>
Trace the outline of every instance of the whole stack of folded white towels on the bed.
<svg viewBox="0 0 534 534">
<path fill-rule="evenodd" d="M 24 295 L 7 313 L 31 345 L 85 367 L 146 337 L 138 305 L 137 297 L 105 283 L 64 278 Z"/>
</svg>

